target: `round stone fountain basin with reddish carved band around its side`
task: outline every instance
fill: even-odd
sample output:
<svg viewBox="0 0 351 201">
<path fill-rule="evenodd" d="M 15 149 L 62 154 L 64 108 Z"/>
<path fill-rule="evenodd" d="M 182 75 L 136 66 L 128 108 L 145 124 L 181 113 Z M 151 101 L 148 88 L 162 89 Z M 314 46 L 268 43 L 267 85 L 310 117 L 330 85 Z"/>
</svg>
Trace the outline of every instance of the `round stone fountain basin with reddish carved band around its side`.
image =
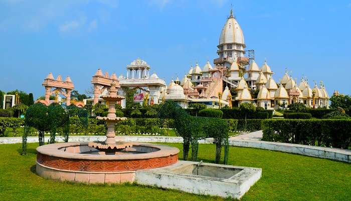
<svg viewBox="0 0 351 201">
<path fill-rule="evenodd" d="M 45 178 L 85 183 L 133 182 L 135 171 L 177 163 L 179 149 L 132 142 L 106 155 L 88 142 L 57 143 L 37 148 L 37 173 Z"/>
</svg>

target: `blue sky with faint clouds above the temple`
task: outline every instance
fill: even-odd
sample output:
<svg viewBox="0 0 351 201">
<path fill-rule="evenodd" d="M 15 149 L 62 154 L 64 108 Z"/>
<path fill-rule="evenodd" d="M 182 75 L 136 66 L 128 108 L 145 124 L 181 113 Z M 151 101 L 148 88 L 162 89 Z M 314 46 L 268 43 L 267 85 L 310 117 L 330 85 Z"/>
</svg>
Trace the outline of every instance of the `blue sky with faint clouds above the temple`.
<svg viewBox="0 0 351 201">
<path fill-rule="evenodd" d="M 168 83 L 217 58 L 231 4 L 247 50 L 277 82 L 288 68 L 329 95 L 351 92 L 351 1 L 0 0 L 0 89 L 38 97 L 52 72 L 82 93 L 97 68 L 125 75 L 137 57 Z"/>
</svg>

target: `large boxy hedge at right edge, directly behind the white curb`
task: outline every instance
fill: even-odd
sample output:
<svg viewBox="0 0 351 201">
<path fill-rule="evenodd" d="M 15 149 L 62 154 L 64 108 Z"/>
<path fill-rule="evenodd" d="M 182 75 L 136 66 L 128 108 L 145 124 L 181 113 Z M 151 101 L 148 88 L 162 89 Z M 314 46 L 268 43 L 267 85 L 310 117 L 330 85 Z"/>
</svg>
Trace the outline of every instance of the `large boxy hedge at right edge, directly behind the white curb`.
<svg viewBox="0 0 351 201">
<path fill-rule="evenodd" d="M 264 120 L 262 140 L 347 149 L 351 142 L 351 120 Z"/>
</svg>

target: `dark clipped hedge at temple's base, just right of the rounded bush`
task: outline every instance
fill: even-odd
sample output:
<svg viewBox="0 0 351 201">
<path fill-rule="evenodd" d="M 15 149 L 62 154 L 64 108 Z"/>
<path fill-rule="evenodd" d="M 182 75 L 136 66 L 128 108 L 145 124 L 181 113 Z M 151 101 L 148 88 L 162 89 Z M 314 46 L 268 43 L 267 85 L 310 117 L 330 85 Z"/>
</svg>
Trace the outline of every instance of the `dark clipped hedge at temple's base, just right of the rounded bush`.
<svg viewBox="0 0 351 201">
<path fill-rule="evenodd" d="M 245 119 L 245 112 L 239 109 L 221 109 L 223 119 Z M 272 118 L 273 111 L 247 112 L 247 119 L 268 119 Z"/>
</svg>

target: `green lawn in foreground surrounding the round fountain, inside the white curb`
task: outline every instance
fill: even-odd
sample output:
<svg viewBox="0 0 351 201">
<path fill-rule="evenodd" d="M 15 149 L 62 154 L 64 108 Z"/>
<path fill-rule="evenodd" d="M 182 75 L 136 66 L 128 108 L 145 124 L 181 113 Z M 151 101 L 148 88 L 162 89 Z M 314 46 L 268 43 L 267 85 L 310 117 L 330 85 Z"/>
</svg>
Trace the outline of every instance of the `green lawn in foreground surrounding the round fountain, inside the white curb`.
<svg viewBox="0 0 351 201">
<path fill-rule="evenodd" d="M 181 144 L 168 144 L 181 148 Z M 223 200 L 134 184 L 84 185 L 35 174 L 37 144 L 0 145 L 0 200 Z M 180 159 L 182 153 L 180 153 Z M 200 145 L 199 160 L 214 162 L 215 146 Z M 351 165 L 269 150 L 230 147 L 232 165 L 262 168 L 262 178 L 242 200 L 350 200 Z"/>
</svg>

